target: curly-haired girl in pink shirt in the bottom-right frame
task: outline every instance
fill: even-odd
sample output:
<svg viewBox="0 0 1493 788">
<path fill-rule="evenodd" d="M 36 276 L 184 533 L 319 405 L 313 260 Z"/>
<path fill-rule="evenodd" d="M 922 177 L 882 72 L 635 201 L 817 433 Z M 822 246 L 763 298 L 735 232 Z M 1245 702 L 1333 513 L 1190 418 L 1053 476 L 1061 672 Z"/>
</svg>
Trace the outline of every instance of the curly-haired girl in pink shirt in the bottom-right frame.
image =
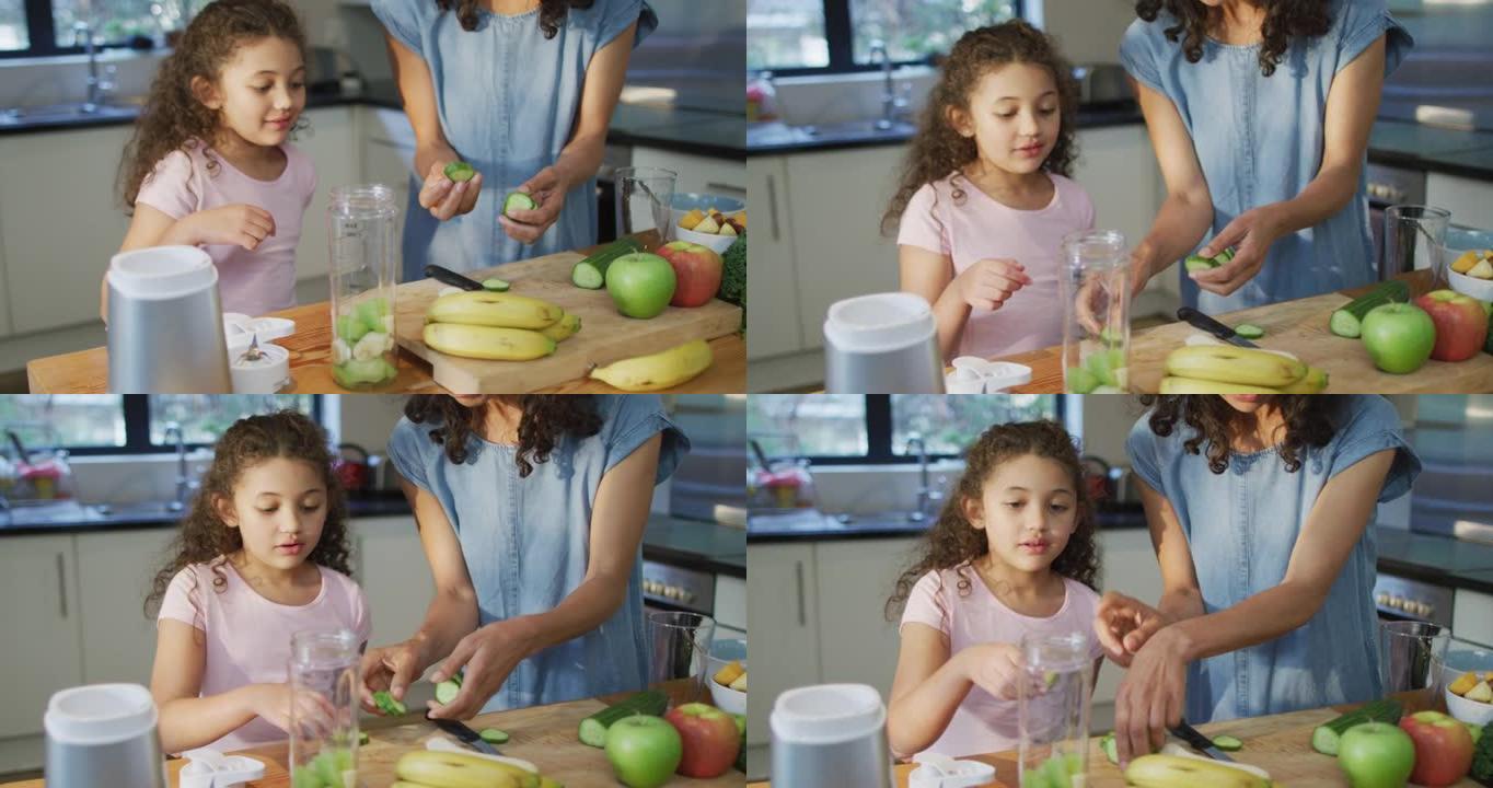
<svg viewBox="0 0 1493 788">
<path fill-rule="evenodd" d="M 1021 636 L 1088 634 L 1097 573 L 1093 512 L 1063 427 L 985 430 L 887 603 L 888 616 L 906 603 L 887 713 L 893 752 L 1015 749 Z M 1103 652 L 1088 639 L 1097 675 Z"/>
</svg>

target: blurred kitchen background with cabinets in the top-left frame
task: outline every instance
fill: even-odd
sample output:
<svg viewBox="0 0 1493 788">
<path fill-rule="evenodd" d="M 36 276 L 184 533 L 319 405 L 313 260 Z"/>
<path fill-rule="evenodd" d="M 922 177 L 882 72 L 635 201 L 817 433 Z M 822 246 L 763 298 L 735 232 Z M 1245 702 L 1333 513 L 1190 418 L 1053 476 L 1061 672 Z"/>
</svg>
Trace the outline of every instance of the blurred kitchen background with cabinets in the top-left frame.
<svg viewBox="0 0 1493 788">
<path fill-rule="evenodd" d="M 115 172 L 169 42 L 205 1 L 0 3 L 0 393 L 27 391 L 31 358 L 105 345 L 97 285 L 128 227 Z M 394 184 L 403 209 L 415 136 L 367 0 L 291 4 L 312 45 L 311 131 L 294 142 L 320 178 L 296 255 L 297 301 L 314 303 L 328 296 L 330 190 Z M 597 178 L 599 242 L 615 237 L 618 167 L 673 170 L 676 194 L 746 197 L 745 0 L 649 4 L 658 28 L 633 51 Z"/>
</svg>

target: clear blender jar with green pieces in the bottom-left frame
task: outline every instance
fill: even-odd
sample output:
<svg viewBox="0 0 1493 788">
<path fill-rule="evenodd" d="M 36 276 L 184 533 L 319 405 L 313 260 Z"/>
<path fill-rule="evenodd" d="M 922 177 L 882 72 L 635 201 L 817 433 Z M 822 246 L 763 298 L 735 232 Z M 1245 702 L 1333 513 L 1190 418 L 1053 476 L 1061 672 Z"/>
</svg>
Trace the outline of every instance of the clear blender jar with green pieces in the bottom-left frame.
<svg viewBox="0 0 1493 788">
<path fill-rule="evenodd" d="M 290 772 L 294 788 L 358 785 L 358 637 L 299 631 L 290 645 Z"/>
</svg>

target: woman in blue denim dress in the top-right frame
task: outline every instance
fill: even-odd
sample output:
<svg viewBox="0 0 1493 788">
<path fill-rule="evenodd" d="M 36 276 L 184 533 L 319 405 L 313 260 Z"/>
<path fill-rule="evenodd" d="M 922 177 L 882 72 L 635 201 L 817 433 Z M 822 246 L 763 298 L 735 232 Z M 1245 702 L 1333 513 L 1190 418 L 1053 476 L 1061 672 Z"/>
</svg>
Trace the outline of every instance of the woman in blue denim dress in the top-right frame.
<svg viewBox="0 0 1493 788">
<path fill-rule="evenodd" d="M 1184 278 L 1203 312 L 1374 282 L 1369 128 L 1414 43 L 1384 0 L 1139 0 L 1136 13 L 1120 60 L 1168 196 L 1135 248 L 1135 293 L 1208 234 L 1199 254 L 1236 254 Z"/>
</svg>

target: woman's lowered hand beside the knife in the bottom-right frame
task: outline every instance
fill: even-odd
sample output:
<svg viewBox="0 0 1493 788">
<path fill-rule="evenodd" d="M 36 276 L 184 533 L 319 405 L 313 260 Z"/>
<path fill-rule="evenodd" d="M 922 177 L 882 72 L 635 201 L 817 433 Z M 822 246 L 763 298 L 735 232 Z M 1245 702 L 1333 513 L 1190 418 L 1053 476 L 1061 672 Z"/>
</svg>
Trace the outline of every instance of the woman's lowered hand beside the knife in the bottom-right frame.
<svg viewBox="0 0 1493 788">
<path fill-rule="evenodd" d="M 1162 749 L 1166 730 L 1182 721 L 1187 697 L 1187 637 L 1176 627 L 1151 636 L 1130 663 L 1115 695 L 1120 767 Z"/>
</svg>

